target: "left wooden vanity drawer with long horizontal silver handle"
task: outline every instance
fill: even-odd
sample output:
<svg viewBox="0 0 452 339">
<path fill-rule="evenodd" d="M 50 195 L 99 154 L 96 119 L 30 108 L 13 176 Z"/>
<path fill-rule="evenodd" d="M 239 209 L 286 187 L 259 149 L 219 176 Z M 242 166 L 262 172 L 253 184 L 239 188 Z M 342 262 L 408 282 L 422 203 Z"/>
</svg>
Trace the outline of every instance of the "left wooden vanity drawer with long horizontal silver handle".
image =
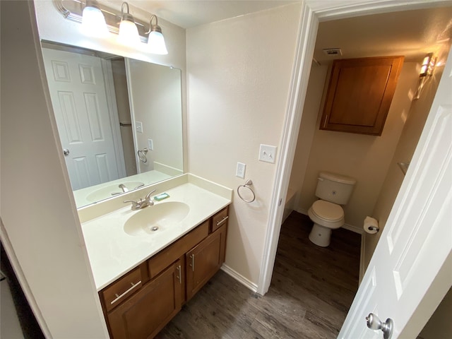
<svg viewBox="0 0 452 339">
<path fill-rule="evenodd" d="M 141 268 L 138 266 L 100 292 L 105 309 L 109 311 L 121 304 L 127 297 L 138 291 L 142 285 Z"/>
</svg>

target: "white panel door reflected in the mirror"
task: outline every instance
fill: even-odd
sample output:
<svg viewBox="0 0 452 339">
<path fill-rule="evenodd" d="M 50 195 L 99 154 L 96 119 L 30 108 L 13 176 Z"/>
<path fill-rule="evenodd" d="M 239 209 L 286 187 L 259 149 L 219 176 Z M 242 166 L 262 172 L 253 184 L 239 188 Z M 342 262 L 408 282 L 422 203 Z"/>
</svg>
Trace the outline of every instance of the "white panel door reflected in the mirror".
<svg viewBox="0 0 452 339">
<path fill-rule="evenodd" d="M 47 48 L 42 53 L 72 189 L 119 179 L 100 58 Z"/>
</svg>

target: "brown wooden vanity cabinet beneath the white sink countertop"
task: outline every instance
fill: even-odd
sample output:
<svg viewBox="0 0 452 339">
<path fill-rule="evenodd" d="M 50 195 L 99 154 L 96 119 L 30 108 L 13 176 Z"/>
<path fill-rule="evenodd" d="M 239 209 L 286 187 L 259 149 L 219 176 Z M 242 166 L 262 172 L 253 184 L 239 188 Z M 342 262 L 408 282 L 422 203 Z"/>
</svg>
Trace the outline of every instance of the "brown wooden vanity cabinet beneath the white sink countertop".
<svg viewBox="0 0 452 339">
<path fill-rule="evenodd" d="M 225 261 L 228 207 L 99 292 L 112 339 L 153 338 Z"/>
</svg>

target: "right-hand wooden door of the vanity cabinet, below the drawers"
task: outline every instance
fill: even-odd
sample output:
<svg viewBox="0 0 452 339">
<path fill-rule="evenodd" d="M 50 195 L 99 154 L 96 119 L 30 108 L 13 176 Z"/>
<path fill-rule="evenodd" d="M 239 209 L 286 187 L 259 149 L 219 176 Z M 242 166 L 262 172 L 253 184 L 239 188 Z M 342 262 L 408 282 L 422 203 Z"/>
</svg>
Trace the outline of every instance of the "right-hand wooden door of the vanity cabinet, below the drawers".
<svg viewBox="0 0 452 339">
<path fill-rule="evenodd" d="M 189 300 L 225 262 L 227 226 L 223 225 L 186 254 L 186 299 Z"/>
</svg>

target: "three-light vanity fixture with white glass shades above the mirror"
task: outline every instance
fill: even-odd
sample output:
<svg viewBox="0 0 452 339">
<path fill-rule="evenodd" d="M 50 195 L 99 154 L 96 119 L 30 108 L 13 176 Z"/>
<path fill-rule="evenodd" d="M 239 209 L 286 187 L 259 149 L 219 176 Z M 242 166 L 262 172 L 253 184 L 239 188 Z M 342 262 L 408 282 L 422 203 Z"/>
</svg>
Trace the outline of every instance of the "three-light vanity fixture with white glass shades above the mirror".
<svg viewBox="0 0 452 339">
<path fill-rule="evenodd" d="M 53 4 L 64 18 L 82 23 L 82 30 L 87 35 L 106 37 L 107 32 L 112 32 L 118 35 L 118 41 L 121 44 L 148 42 L 150 53 L 168 54 L 162 28 L 157 25 L 157 16 L 151 16 L 149 23 L 133 18 L 129 11 L 129 4 L 126 2 L 122 4 L 120 13 L 117 9 L 109 8 L 104 4 L 101 7 L 96 0 L 53 0 Z M 155 25 L 152 23 L 153 18 L 155 18 Z M 155 42 L 155 35 L 157 35 L 157 42 Z"/>
</svg>

